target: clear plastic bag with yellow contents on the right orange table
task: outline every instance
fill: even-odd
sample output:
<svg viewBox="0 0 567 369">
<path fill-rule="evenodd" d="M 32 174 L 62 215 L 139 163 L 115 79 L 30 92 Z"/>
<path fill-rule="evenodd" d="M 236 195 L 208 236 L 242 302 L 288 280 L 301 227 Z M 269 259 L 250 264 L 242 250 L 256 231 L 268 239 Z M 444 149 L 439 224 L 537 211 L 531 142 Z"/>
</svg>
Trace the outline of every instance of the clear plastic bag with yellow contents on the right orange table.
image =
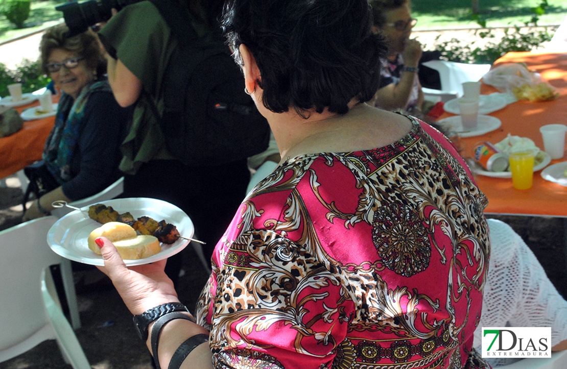
<svg viewBox="0 0 567 369">
<path fill-rule="evenodd" d="M 514 95 L 518 100 L 555 100 L 559 94 L 539 73 L 530 71 L 524 63 L 507 63 L 490 70 L 483 82 L 498 91 Z"/>
</svg>

